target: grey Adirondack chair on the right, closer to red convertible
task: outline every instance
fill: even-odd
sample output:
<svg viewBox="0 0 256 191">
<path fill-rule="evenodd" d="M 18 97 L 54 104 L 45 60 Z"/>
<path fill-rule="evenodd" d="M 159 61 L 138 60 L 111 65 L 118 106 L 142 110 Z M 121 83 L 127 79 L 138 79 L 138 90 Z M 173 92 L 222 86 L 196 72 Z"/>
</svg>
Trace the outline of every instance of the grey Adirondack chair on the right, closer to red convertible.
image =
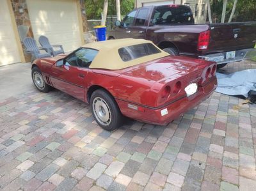
<svg viewBox="0 0 256 191">
<path fill-rule="evenodd" d="M 64 50 L 62 45 L 51 45 L 49 42 L 49 39 L 46 36 L 39 36 L 39 43 L 42 46 L 43 49 L 46 50 L 46 52 L 49 52 L 52 56 L 56 56 L 58 54 L 63 54 Z M 54 47 L 58 47 L 60 49 L 54 50 Z"/>
</svg>

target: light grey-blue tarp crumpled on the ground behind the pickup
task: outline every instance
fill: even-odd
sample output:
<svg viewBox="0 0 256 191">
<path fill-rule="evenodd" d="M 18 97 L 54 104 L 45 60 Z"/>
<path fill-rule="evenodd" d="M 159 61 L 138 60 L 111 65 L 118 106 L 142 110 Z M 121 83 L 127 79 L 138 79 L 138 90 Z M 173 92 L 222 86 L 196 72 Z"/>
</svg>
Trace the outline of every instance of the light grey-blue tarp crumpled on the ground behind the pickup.
<svg viewBox="0 0 256 191">
<path fill-rule="evenodd" d="M 256 90 L 256 69 L 243 70 L 231 74 L 216 73 L 218 88 L 216 92 L 226 95 L 243 95 L 248 97 L 248 91 Z"/>
</svg>

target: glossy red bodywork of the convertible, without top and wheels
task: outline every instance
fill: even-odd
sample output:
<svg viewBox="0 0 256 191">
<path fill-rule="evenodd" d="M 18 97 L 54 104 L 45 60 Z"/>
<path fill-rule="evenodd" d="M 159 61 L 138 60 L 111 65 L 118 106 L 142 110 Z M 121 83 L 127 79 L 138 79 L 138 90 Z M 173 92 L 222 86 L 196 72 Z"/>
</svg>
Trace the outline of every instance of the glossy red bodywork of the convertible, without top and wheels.
<svg viewBox="0 0 256 191">
<path fill-rule="evenodd" d="M 202 59 L 166 56 L 122 70 L 102 70 L 56 66 L 63 57 L 35 61 L 47 84 L 86 103 L 90 102 L 88 90 L 102 87 L 115 98 L 124 116 L 147 123 L 166 125 L 208 98 L 217 86 L 216 64 Z M 177 82 L 180 89 L 173 92 Z M 187 96 L 184 88 L 191 83 L 198 84 L 198 91 Z M 161 97 L 165 86 L 171 89 L 168 98 Z M 162 116 L 162 109 L 168 114 Z"/>
</svg>

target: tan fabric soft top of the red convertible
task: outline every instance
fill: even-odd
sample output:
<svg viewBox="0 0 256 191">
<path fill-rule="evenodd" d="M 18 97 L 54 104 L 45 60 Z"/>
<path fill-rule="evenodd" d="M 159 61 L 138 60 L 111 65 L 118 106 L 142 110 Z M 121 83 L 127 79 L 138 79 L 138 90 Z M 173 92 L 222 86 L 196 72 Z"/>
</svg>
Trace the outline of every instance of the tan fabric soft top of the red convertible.
<svg viewBox="0 0 256 191">
<path fill-rule="evenodd" d="M 124 38 L 118 40 L 107 40 L 88 43 L 86 45 L 83 45 L 83 47 L 99 50 L 99 53 L 97 54 L 97 56 L 95 56 L 89 68 L 102 68 L 108 70 L 120 70 L 169 55 L 168 53 L 157 47 L 157 49 L 161 50 L 161 52 L 157 54 L 139 57 L 136 59 L 132 59 L 131 61 L 122 61 L 121 57 L 118 54 L 118 49 L 131 45 L 138 45 L 141 43 L 152 42 L 143 39 Z"/>
</svg>

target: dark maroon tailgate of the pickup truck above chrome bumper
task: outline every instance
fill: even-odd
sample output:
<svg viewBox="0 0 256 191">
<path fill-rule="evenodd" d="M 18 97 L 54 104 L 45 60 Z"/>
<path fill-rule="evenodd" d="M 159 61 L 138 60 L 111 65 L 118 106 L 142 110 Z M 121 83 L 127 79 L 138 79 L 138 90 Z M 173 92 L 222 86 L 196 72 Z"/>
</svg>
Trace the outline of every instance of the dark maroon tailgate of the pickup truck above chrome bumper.
<svg viewBox="0 0 256 191">
<path fill-rule="evenodd" d="M 211 40 L 203 54 L 252 49 L 256 42 L 256 22 L 210 24 Z"/>
</svg>

